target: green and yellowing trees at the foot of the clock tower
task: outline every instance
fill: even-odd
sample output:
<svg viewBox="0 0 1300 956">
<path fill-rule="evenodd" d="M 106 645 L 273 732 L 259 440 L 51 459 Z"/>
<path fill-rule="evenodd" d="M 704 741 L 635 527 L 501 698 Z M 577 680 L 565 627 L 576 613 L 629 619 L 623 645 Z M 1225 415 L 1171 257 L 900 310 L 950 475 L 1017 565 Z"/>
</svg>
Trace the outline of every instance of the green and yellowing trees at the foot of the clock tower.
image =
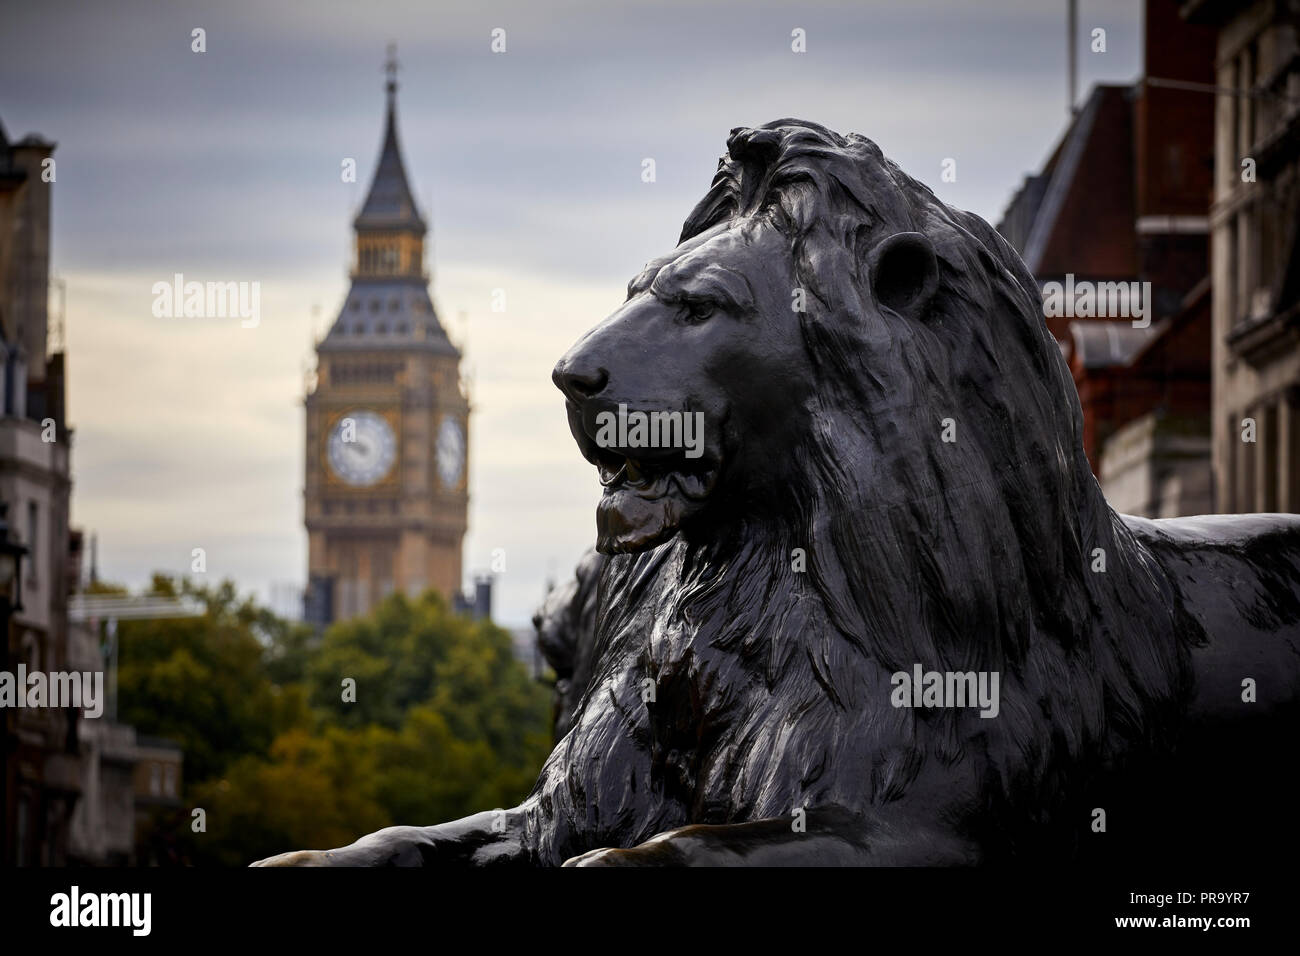
<svg viewBox="0 0 1300 956">
<path fill-rule="evenodd" d="M 550 695 L 510 635 L 433 592 L 394 594 L 316 637 L 230 583 L 157 578 L 155 591 L 205 609 L 120 628 L 120 719 L 185 748 L 187 809 L 161 814 L 155 835 L 169 855 L 244 865 L 512 806 L 550 752 Z"/>
</svg>

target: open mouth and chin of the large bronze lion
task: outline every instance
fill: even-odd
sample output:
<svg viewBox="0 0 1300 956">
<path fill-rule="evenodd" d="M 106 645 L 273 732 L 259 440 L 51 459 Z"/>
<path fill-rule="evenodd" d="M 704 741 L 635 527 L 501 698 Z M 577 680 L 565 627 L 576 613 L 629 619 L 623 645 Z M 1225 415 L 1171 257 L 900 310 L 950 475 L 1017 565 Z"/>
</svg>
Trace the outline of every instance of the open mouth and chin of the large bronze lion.
<svg viewBox="0 0 1300 956">
<path fill-rule="evenodd" d="M 595 546 L 602 554 L 628 554 L 662 544 L 703 507 L 718 485 L 722 462 L 708 449 L 688 458 L 684 449 L 602 447 L 572 405 L 569 428 L 604 486 L 595 511 Z"/>
</svg>

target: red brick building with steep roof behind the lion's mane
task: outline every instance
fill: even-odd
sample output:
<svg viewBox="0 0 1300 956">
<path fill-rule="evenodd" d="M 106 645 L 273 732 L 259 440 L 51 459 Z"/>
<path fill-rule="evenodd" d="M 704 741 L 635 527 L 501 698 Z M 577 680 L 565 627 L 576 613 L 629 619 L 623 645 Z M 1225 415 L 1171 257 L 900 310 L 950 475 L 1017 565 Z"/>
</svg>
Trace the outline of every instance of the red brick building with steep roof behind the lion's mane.
<svg viewBox="0 0 1300 956">
<path fill-rule="evenodd" d="M 1136 514 L 1210 506 L 1214 98 L 1196 85 L 1213 78 L 1213 31 L 1183 21 L 1175 0 L 1148 0 L 1143 77 L 1093 87 L 998 224 L 1040 286 L 1141 284 L 1145 328 L 1131 315 L 1045 316 L 1079 389 L 1092 470 Z"/>
</svg>

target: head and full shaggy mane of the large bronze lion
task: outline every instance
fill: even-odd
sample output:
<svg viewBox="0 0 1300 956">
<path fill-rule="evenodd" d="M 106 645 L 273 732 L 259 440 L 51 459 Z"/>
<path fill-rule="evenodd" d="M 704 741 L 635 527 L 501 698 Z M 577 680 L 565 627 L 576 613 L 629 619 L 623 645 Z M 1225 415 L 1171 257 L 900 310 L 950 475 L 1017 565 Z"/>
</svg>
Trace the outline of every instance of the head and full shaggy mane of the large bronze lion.
<svg viewBox="0 0 1300 956">
<path fill-rule="evenodd" d="M 926 718 L 916 749 L 872 771 L 883 795 L 916 753 L 950 757 L 970 734 L 1014 741 L 994 773 L 1024 758 L 1046 787 L 1060 748 L 1157 739 L 1180 652 L 1162 639 L 1135 665 L 1109 622 L 1173 633 L 1173 591 L 1092 477 L 1023 263 L 863 137 L 779 120 L 727 147 L 680 245 L 555 367 L 604 485 L 598 548 L 616 555 L 599 641 L 693 635 L 671 644 L 690 649 L 680 670 L 646 665 L 660 685 L 732 654 L 710 665 L 727 675 L 715 693 L 772 689 L 745 717 L 755 735 L 826 714 L 792 731 L 809 773 L 879 760 L 868 718 L 828 722 L 864 714 L 889 671 L 1001 671 L 997 727 Z M 698 455 L 611 431 L 620 412 L 699 414 Z M 718 788 L 742 800 L 736 779 L 764 779 L 764 757 L 736 760 Z"/>
</svg>

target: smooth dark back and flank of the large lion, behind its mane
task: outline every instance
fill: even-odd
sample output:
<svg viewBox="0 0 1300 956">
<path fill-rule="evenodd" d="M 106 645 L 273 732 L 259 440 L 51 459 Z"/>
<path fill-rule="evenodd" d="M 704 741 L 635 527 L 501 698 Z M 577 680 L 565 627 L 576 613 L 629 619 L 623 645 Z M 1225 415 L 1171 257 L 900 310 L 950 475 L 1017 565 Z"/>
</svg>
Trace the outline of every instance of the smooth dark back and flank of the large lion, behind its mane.
<svg viewBox="0 0 1300 956">
<path fill-rule="evenodd" d="M 1296 845 L 1300 515 L 1122 518 L 1180 596 L 1192 678 L 1176 754 L 1124 806 L 1130 843 L 1170 834 L 1161 852 L 1201 865 Z"/>
</svg>

